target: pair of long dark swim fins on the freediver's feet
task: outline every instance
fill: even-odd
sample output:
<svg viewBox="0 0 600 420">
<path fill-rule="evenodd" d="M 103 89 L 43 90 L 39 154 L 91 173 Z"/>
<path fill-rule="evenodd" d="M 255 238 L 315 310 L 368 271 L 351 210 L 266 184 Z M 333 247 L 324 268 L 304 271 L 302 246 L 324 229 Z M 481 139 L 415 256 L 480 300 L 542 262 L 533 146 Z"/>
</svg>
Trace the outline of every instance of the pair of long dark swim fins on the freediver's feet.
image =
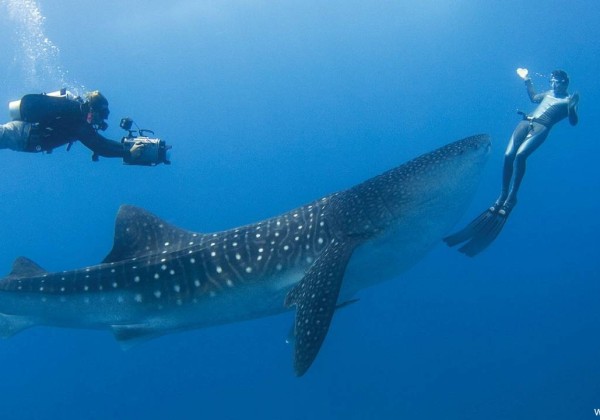
<svg viewBox="0 0 600 420">
<path fill-rule="evenodd" d="M 474 257 L 486 249 L 498 237 L 514 205 L 494 205 L 477 216 L 465 228 L 446 236 L 444 242 L 455 246 L 466 242 L 458 250 Z"/>
</svg>

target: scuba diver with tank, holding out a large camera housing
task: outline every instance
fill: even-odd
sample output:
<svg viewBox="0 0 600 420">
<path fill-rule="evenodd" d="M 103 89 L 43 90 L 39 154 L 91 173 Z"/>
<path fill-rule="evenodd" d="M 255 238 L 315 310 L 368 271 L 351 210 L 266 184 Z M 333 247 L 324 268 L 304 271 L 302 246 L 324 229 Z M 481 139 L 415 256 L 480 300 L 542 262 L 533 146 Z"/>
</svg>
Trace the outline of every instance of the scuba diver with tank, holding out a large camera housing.
<svg viewBox="0 0 600 420">
<path fill-rule="evenodd" d="M 53 149 L 79 140 L 99 156 L 122 158 L 130 165 L 154 166 L 169 163 L 166 151 L 170 148 L 159 139 L 134 137 L 122 142 L 99 134 L 108 127 L 108 100 L 99 91 L 84 98 L 66 89 L 48 94 L 29 94 L 9 103 L 12 121 L 0 125 L 0 149 L 19 152 L 51 153 Z M 140 130 L 142 131 L 142 130 Z M 145 130 L 147 131 L 147 130 Z"/>
</svg>

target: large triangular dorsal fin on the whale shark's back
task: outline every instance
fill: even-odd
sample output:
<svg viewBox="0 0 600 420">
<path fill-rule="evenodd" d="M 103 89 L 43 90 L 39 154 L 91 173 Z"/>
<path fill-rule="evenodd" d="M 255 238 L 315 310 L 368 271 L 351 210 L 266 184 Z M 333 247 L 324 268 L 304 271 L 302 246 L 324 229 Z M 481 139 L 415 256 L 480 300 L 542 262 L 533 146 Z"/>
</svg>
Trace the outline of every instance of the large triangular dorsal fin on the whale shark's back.
<svg viewBox="0 0 600 420">
<path fill-rule="evenodd" d="M 176 251 L 199 242 L 201 236 L 175 227 L 139 207 L 123 205 L 117 213 L 113 248 L 102 262 L 139 258 L 160 250 Z"/>
</svg>

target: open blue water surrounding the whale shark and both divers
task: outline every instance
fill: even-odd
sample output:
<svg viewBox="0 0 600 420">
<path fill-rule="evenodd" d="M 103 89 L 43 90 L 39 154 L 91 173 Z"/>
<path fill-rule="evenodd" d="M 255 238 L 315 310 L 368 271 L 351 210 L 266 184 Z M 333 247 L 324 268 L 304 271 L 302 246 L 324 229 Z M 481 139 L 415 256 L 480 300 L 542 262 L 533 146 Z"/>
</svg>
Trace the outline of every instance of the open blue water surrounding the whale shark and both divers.
<svg viewBox="0 0 600 420">
<path fill-rule="evenodd" d="M 580 124 L 556 126 L 530 159 L 497 241 L 474 259 L 440 243 L 362 291 L 304 377 L 285 343 L 291 313 L 127 352 L 108 332 L 40 327 L 0 342 L 0 418 L 593 418 L 599 21 L 597 0 L 1 0 L 3 103 L 100 89 L 109 137 L 130 116 L 173 144 L 156 168 L 94 163 L 81 144 L 3 150 L 6 273 L 20 255 L 50 271 L 98 263 L 122 203 L 216 231 L 486 132 L 464 224 L 495 199 L 515 109 L 532 107 L 515 69 L 563 68 L 582 99 Z"/>
</svg>

